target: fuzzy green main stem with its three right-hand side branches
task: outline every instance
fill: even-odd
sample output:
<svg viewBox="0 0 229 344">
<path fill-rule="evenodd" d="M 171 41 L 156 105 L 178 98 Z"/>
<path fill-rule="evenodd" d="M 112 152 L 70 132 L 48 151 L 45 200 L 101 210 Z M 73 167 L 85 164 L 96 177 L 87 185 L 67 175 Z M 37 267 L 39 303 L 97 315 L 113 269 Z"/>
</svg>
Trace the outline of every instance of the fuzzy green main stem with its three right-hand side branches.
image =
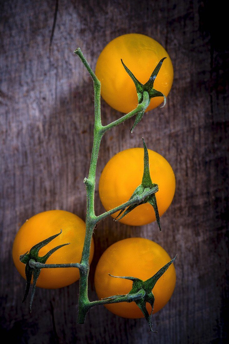
<svg viewBox="0 0 229 344">
<path fill-rule="evenodd" d="M 100 143 L 103 135 L 107 130 L 110 130 L 117 125 L 123 123 L 125 120 L 133 117 L 134 115 L 137 115 L 139 112 L 144 113 L 146 108 L 149 105 L 149 94 L 148 92 L 143 93 L 143 100 L 140 104 L 138 104 L 137 108 L 133 111 L 129 112 L 128 114 L 124 115 L 123 117 L 117 119 L 116 121 L 106 125 L 102 126 L 101 122 L 101 107 L 100 107 L 100 91 L 101 91 L 101 84 L 94 72 L 92 71 L 91 67 L 89 66 L 87 60 L 83 56 L 81 50 L 78 48 L 75 51 L 75 54 L 77 54 L 81 61 L 83 62 L 84 66 L 87 68 L 89 74 L 91 75 L 93 79 L 94 84 L 94 103 L 95 103 L 95 121 L 94 121 L 94 139 L 93 139 L 93 147 L 92 147 L 92 153 L 91 153 L 91 162 L 90 162 L 90 169 L 88 178 L 84 178 L 84 183 L 86 185 L 86 192 L 87 192 L 87 214 L 86 214 L 86 233 L 85 233 L 85 239 L 84 239 L 84 245 L 83 245 L 83 251 L 82 251 L 82 257 L 80 261 L 80 265 L 83 266 L 83 269 L 80 268 L 80 288 L 79 288 L 79 300 L 78 300 L 78 323 L 82 324 L 85 321 L 85 317 L 87 312 L 89 311 L 90 307 L 93 307 L 95 304 L 104 304 L 105 300 L 101 301 L 94 301 L 90 302 L 88 298 L 88 276 L 89 276 L 89 257 L 90 257 L 90 247 L 91 247 L 91 240 L 93 231 L 95 228 L 96 223 L 101 221 L 101 219 L 106 218 L 107 216 L 114 214 L 116 211 L 123 209 L 123 207 L 126 207 L 129 204 L 137 204 L 139 203 L 143 198 L 148 195 L 146 193 L 145 195 L 141 197 L 136 197 L 134 200 L 128 201 L 124 203 L 124 205 L 118 206 L 115 209 L 112 209 L 100 216 L 95 216 L 94 211 L 94 194 L 95 194 L 95 174 L 96 174 L 96 166 L 98 161 L 98 155 L 99 155 L 99 148 Z M 150 190 L 149 194 L 156 192 L 156 190 Z M 140 294 L 139 294 L 140 295 Z M 136 297 L 142 297 L 137 295 Z M 115 300 L 119 300 L 120 298 L 115 297 Z M 113 303 L 114 299 L 107 299 L 107 303 Z M 112 300 L 112 301 L 110 301 Z M 115 301 L 115 302 L 123 302 L 128 301 L 129 296 L 125 295 L 123 297 L 122 301 Z"/>
</svg>

